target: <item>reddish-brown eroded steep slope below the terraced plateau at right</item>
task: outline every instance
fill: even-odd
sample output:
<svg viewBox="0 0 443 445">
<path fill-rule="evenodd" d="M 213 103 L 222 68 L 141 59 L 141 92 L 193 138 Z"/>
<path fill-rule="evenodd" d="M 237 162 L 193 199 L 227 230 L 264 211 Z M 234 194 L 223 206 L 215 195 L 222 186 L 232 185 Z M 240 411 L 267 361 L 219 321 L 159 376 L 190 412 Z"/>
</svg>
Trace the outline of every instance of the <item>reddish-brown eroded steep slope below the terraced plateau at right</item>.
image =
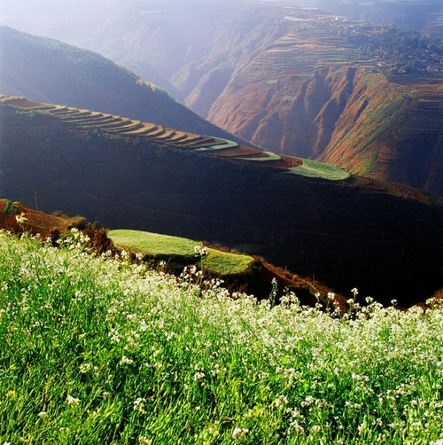
<svg viewBox="0 0 443 445">
<path fill-rule="evenodd" d="M 209 119 L 276 152 L 443 194 L 439 79 L 354 67 L 274 79 L 231 82 Z"/>
</svg>

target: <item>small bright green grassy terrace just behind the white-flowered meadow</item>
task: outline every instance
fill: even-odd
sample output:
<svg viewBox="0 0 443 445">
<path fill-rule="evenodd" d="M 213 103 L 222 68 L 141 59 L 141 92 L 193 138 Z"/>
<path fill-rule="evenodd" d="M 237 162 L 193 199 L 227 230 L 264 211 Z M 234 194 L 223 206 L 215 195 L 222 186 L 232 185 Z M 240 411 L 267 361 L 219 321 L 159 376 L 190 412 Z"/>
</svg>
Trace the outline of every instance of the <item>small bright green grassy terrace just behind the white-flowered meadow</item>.
<svg viewBox="0 0 443 445">
<path fill-rule="evenodd" d="M 253 257 L 247 255 L 229 254 L 219 250 L 207 248 L 207 254 L 201 258 L 196 255 L 197 241 L 188 238 L 172 237 L 140 230 L 110 230 L 109 238 L 116 246 L 128 246 L 149 254 L 153 257 L 178 260 L 186 264 L 198 263 L 203 268 L 221 275 L 244 273 Z"/>
</svg>

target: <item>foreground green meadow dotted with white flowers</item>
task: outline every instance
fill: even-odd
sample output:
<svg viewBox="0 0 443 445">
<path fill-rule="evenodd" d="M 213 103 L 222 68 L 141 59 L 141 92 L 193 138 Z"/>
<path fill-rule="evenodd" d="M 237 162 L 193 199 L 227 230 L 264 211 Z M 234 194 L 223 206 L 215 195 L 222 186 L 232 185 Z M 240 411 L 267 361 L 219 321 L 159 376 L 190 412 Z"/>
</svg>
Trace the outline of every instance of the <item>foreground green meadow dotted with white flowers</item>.
<svg viewBox="0 0 443 445">
<path fill-rule="evenodd" d="M 431 444 L 443 310 L 331 316 L 0 236 L 0 443 Z"/>
</svg>

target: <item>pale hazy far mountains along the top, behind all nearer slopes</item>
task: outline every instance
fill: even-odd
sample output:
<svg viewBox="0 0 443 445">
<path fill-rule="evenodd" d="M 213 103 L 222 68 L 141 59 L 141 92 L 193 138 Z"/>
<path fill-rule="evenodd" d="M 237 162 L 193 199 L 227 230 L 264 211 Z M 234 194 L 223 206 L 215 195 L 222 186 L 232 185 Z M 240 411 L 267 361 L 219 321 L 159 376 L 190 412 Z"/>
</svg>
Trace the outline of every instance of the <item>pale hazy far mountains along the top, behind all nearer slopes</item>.
<svg viewBox="0 0 443 445">
<path fill-rule="evenodd" d="M 443 12 L 439 0 L 404 1 L 287 1 L 319 7 L 333 14 L 383 25 L 395 23 L 414 27 L 424 34 L 441 35 Z M 281 2 L 241 0 L 14 0 L 1 7 L 0 25 L 97 51 L 114 62 L 134 69 L 144 79 L 170 89 L 171 78 L 187 63 L 213 52 L 221 29 L 222 40 L 230 40 L 229 26 L 238 14 L 251 22 L 260 20 L 257 11 L 278 8 Z M 239 25 L 247 35 L 251 24 Z M 151 79 L 153 67 L 159 78 Z"/>
</svg>

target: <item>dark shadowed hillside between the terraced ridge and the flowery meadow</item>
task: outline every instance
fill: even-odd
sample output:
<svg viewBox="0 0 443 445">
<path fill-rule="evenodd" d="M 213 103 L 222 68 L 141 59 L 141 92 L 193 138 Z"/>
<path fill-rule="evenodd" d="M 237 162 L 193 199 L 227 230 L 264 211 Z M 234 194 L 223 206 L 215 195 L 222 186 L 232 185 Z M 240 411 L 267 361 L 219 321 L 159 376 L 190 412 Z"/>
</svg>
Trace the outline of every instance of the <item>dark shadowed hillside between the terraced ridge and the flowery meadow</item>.
<svg viewBox="0 0 443 445">
<path fill-rule="evenodd" d="M 46 212 L 260 254 L 345 296 L 406 306 L 443 287 L 443 207 L 416 189 L 293 174 L 297 163 L 113 134 L 51 109 L 0 112 L 0 197 L 33 205 L 36 191 Z"/>
</svg>

